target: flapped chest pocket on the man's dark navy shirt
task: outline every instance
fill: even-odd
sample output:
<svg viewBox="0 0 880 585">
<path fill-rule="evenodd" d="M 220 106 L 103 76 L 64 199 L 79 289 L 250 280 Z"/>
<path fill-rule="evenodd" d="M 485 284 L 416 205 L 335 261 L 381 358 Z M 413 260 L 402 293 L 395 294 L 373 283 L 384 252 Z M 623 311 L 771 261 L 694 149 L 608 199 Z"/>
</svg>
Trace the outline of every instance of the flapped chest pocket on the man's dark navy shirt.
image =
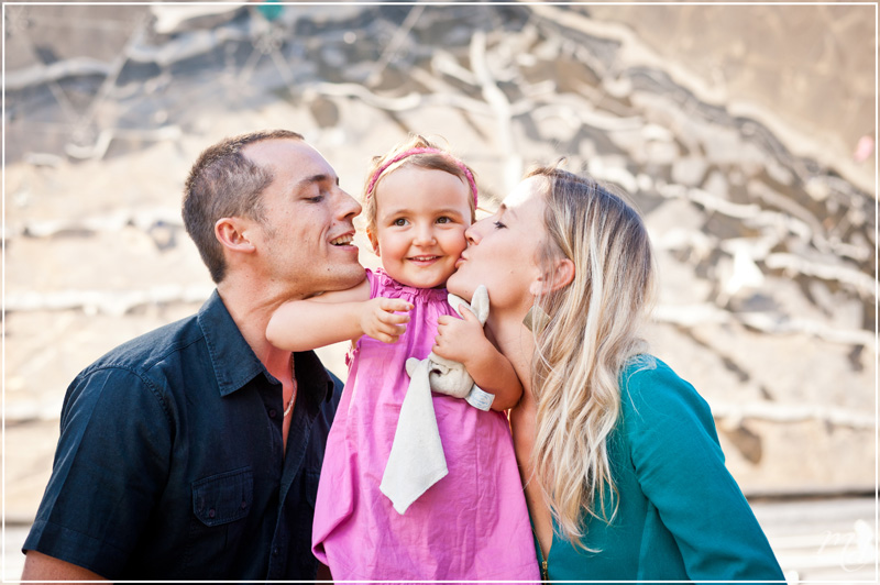
<svg viewBox="0 0 880 585">
<path fill-rule="evenodd" d="M 250 467 L 193 483 L 193 514 L 207 527 L 244 518 L 251 511 L 253 498 L 254 475 Z"/>
</svg>

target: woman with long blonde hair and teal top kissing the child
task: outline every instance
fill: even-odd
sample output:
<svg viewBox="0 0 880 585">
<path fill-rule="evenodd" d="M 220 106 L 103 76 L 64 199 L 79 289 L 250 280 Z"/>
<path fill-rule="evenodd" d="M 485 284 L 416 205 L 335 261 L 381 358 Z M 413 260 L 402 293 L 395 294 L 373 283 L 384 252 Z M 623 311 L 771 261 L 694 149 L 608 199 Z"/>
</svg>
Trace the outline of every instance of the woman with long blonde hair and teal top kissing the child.
<svg viewBox="0 0 880 585">
<path fill-rule="evenodd" d="M 526 388 L 510 424 L 543 577 L 782 581 L 708 406 L 645 353 L 654 266 L 638 214 L 540 168 L 466 235 L 448 286 L 486 285 L 486 329 Z"/>
</svg>

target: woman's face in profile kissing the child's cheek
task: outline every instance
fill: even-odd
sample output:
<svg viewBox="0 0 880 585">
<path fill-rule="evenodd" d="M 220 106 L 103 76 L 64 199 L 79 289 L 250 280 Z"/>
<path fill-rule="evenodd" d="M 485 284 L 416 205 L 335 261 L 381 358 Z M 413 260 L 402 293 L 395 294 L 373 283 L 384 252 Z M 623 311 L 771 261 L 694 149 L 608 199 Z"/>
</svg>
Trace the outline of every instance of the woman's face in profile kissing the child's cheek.
<svg viewBox="0 0 880 585">
<path fill-rule="evenodd" d="M 544 238 L 543 177 L 521 181 L 498 211 L 464 232 L 468 249 L 449 277 L 447 288 L 471 299 L 480 285 L 488 289 L 492 314 L 528 311 L 540 277 L 538 250 Z"/>
</svg>

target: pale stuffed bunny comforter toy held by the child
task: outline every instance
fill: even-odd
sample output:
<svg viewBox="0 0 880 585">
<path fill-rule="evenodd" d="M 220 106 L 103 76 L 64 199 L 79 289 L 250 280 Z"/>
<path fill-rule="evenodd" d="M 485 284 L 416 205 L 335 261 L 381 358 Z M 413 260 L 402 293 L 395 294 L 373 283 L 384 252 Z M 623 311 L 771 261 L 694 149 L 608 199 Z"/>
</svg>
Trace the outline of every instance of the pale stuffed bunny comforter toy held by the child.
<svg viewBox="0 0 880 585">
<path fill-rule="evenodd" d="M 485 286 L 476 289 L 471 305 L 455 295 L 449 296 L 449 303 L 459 314 L 461 307 L 468 307 L 482 324 L 486 323 L 488 291 Z M 392 500 L 397 514 L 406 512 L 429 487 L 449 473 L 431 390 L 463 398 L 481 410 L 488 410 L 495 398 L 476 387 L 462 364 L 444 360 L 433 352 L 425 360 L 407 360 L 406 372 L 410 377 L 409 387 L 400 405 L 392 452 L 380 484 L 380 490 Z"/>
</svg>

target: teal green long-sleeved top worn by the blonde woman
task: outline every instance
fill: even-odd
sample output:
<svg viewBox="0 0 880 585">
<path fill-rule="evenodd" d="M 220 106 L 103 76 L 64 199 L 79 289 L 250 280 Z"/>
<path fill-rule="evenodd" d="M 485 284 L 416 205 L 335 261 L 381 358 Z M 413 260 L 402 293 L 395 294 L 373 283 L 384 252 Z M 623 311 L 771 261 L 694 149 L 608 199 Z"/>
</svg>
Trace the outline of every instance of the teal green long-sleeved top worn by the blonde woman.
<svg viewBox="0 0 880 585">
<path fill-rule="evenodd" d="M 554 525 L 547 577 L 784 581 L 724 465 L 706 401 L 651 356 L 627 365 L 620 389 L 622 417 L 608 440 L 617 516 L 610 526 L 585 517 L 583 543 L 595 553 L 575 549 Z"/>
</svg>

